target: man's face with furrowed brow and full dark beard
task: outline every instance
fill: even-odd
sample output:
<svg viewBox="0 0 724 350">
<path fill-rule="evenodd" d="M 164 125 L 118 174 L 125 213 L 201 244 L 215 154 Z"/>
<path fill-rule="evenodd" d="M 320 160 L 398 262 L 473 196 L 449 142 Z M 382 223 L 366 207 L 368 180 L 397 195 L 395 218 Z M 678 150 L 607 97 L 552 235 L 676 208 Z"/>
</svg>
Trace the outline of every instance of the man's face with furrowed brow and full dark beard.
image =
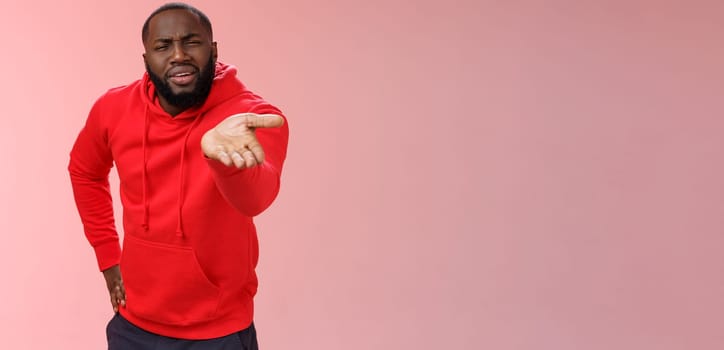
<svg viewBox="0 0 724 350">
<path fill-rule="evenodd" d="M 186 10 L 168 10 L 151 18 L 144 42 L 146 70 L 161 105 L 171 114 L 202 104 L 209 94 L 216 43 L 199 18 Z"/>
</svg>

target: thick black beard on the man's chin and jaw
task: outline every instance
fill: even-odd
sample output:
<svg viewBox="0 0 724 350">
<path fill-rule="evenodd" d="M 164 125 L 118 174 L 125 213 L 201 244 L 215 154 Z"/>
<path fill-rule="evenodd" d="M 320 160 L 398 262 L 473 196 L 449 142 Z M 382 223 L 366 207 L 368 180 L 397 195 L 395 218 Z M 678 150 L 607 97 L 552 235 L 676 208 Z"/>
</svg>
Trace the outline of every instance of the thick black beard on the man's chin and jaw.
<svg viewBox="0 0 724 350">
<path fill-rule="evenodd" d="M 194 89 L 190 92 L 177 94 L 171 90 L 171 85 L 165 79 L 154 74 L 151 71 L 151 67 L 146 64 L 146 72 L 148 72 L 148 77 L 156 87 L 156 93 L 163 97 L 170 105 L 181 110 L 204 104 L 206 98 L 209 97 L 209 92 L 211 92 L 211 84 L 214 82 L 214 75 L 216 73 L 215 68 L 216 62 L 214 58 L 209 57 L 209 62 L 199 71 L 199 77 Z"/>
</svg>

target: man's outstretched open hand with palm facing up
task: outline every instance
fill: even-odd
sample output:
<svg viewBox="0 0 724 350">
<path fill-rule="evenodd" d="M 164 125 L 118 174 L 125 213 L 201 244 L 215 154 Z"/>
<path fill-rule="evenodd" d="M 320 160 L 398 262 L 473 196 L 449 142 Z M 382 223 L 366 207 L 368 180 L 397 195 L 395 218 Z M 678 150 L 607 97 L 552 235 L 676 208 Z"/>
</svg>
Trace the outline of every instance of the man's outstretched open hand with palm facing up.
<svg viewBox="0 0 724 350">
<path fill-rule="evenodd" d="M 264 149 L 254 130 L 282 125 L 284 118 L 276 114 L 234 114 L 204 134 L 201 150 L 206 157 L 226 166 L 251 168 L 264 162 Z"/>
</svg>

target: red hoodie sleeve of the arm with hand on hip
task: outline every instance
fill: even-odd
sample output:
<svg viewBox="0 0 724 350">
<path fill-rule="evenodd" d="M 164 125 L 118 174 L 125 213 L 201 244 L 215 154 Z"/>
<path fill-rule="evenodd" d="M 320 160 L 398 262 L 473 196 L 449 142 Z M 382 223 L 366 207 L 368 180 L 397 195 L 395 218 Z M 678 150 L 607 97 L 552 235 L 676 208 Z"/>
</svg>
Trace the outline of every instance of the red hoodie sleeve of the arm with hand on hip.
<svg viewBox="0 0 724 350">
<path fill-rule="evenodd" d="M 78 213 L 101 271 L 118 264 L 121 259 L 108 184 L 113 157 L 103 116 L 99 100 L 73 145 L 68 165 Z"/>
</svg>

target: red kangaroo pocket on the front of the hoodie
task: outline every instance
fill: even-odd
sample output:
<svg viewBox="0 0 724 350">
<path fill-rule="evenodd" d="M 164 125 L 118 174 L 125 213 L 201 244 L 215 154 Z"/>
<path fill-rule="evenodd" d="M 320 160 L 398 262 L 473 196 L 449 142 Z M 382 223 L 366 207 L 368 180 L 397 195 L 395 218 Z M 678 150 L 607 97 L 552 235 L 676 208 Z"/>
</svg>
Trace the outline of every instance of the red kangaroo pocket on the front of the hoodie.
<svg viewBox="0 0 724 350">
<path fill-rule="evenodd" d="M 165 324 L 214 317 L 220 290 L 204 274 L 194 250 L 127 235 L 121 261 L 128 312 Z"/>
</svg>

